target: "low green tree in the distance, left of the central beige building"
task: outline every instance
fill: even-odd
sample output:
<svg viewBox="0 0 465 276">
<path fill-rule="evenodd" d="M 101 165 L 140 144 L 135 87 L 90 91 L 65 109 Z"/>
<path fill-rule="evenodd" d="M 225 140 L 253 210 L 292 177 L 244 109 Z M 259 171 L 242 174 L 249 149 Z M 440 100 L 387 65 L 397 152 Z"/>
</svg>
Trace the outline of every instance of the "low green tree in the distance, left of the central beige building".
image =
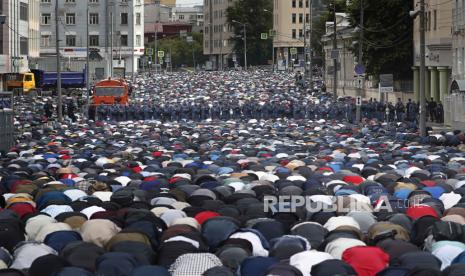
<svg viewBox="0 0 465 276">
<path fill-rule="evenodd" d="M 195 63 L 204 64 L 208 59 L 203 55 L 203 33 L 191 33 L 188 36 L 193 37 L 193 42 L 187 42 L 186 37 L 171 37 L 160 39 L 158 43 L 158 50 L 164 51 L 165 56 L 171 52 L 171 62 L 173 68 L 180 67 L 181 65 L 193 67 L 193 55 L 195 55 Z M 155 49 L 155 45 L 152 43 L 149 47 Z"/>
</svg>

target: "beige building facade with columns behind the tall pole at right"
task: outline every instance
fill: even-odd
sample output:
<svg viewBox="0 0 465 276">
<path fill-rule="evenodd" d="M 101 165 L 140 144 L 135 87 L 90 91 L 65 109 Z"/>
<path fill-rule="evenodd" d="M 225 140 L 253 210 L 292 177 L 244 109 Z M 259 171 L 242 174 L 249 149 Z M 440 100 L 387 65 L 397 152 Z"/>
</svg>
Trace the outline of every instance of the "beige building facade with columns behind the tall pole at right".
<svg viewBox="0 0 465 276">
<path fill-rule="evenodd" d="M 419 0 L 414 0 L 414 7 L 418 7 Z M 458 46 L 461 36 L 453 32 L 452 8 L 455 3 L 463 1 L 426 0 L 426 77 L 425 97 L 433 98 L 436 102 L 444 102 L 451 84 L 451 77 L 465 74 L 463 60 L 465 52 Z M 457 9 L 456 9 L 457 10 Z M 465 27 L 465 25 L 464 25 Z M 420 18 L 414 21 L 414 93 L 415 100 L 420 99 Z M 464 29 L 465 31 L 465 29 Z M 453 39 L 454 37 L 454 39 Z M 453 50 L 453 40 L 456 44 Z M 465 42 L 465 40 L 462 40 Z M 454 72 L 452 72 L 452 69 Z"/>
</svg>

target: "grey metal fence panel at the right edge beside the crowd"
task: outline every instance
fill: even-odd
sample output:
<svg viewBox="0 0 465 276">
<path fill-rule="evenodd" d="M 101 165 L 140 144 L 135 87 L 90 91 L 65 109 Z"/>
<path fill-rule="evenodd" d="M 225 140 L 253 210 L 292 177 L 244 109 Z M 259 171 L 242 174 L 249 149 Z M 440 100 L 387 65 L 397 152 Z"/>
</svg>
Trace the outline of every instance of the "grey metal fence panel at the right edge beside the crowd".
<svg viewBox="0 0 465 276">
<path fill-rule="evenodd" d="M 454 129 L 465 130 L 465 93 L 451 94 L 444 99 L 444 122 Z"/>
</svg>

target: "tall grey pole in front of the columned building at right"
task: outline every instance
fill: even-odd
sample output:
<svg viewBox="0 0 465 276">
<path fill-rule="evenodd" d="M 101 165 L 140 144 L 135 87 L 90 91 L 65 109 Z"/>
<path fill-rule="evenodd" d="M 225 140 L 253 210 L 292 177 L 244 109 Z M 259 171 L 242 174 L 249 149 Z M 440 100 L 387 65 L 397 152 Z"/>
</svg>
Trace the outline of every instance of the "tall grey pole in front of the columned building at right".
<svg viewBox="0 0 465 276">
<path fill-rule="evenodd" d="M 420 0 L 420 135 L 426 136 L 425 0 Z"/>
</svg>

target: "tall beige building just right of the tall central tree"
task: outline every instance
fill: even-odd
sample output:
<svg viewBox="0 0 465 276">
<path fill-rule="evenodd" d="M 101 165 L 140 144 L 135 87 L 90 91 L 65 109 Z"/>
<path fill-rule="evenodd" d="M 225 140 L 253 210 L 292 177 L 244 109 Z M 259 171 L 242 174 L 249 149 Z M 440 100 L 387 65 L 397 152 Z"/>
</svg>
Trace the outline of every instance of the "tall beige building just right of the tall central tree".
<svg viewBox="0 0 465 276">
<path fill-rule="evenodd" d="M 312 16 L 316 18 L 324 8 L 321 0 L 274 0 L 273 47 L 278 69 L 284 70 L 291 67 L 292 60 L 297 66 L 303 66 L 304 27 L 307 31 L 310 30 L 310 3 L 313 8 Z M 296 48 L 297 54 L 291 55 L 291 48 Z"/>
</svg>

